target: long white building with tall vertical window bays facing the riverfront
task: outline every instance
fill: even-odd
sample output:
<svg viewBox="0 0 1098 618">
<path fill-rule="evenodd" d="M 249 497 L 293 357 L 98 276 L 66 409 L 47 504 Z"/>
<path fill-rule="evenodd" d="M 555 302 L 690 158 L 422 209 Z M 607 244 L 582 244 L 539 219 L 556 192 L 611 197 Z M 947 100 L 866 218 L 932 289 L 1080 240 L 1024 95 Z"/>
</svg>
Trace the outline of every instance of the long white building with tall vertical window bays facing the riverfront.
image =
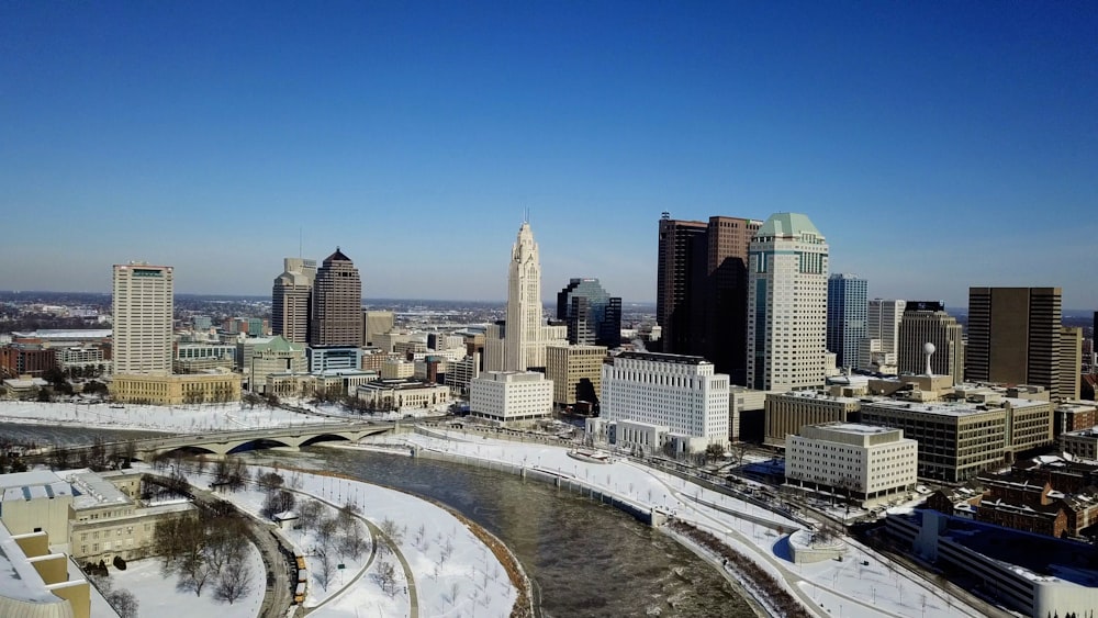
<svg viewBox="0 0 1098 618">
<path fill-rule="evenodd" d="M 728 443 L 729 378 L 702 357 L 623 352 L 603 366 L 602 416 L 668 427 L 692 449 Z"/>
</svg>

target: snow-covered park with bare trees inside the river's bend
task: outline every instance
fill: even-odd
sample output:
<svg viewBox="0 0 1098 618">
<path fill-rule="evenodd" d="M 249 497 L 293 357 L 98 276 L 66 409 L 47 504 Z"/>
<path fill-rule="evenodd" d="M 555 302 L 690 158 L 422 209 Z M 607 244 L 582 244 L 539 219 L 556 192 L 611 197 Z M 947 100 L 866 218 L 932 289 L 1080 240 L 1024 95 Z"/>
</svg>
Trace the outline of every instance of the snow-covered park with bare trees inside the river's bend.
<svg viewBox="0 0 1098 618">
<path fill-rule="evenodd" d="M 273 471 L 259 467 L 250 467 L 250 470 L 254 476 Z M 344 568 L 334 569 L 327 582 L 321 575 L 315 529 L 284 531 L 295 549 L 305 555 L 310 576 L 304 605 L 310 608 L 310 615 L 322 618 L 407 616 L 413 588 L 419 616 L 505 617 L 511 614 L 518 592 L 503 564 L 472 530 L 446 509 L 359 481 L 304 471 L 278 472 L 285 480 L 285 486 L 296 493 L 298 506 L 307 499 L 326 505 L 327 513 L 322 517 L 335 517 L 338 507 L 352 504 L 363 524 L 368 520 L 382 527 L 389 519 L 397 525 L 397 538 L 393 539 L 397 552 L 374 552 L 371 544 L 358 558 L 339 555 L 337 564 Z M 188 472 L 188 476 L 199 487 L 205 487 L 210 481 L 193 472 Z M 258 488 L 220 495 L 257 517 L 265 499 L 265 493 Z M 368 531 L 365 535 L 370 537 Z M 407 562 L 411 586 L 399 557 Z M 392 564 L 396 573 L 396 585 L 389 591 L 382 588 L 378 578 L 383 562 Z M 182 597 L 176 594 L 180 600 Z"/>
</svg>

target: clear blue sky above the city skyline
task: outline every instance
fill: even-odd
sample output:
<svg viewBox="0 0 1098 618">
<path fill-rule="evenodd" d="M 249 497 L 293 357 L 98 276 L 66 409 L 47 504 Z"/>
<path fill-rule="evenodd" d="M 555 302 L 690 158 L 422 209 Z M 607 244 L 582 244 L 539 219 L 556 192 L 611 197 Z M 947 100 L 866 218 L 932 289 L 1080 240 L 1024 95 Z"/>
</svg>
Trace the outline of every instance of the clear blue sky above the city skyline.
<svg viewBox="0 0 1098 618">
<path fill-rule="evenodd" d="M 1098 307 L 1098 3 L 0 3 L 0 289 L 502 300 L 530 210 L 656 297 L 657 222 L 807 213 L 883 297 Z"/>
</svg>

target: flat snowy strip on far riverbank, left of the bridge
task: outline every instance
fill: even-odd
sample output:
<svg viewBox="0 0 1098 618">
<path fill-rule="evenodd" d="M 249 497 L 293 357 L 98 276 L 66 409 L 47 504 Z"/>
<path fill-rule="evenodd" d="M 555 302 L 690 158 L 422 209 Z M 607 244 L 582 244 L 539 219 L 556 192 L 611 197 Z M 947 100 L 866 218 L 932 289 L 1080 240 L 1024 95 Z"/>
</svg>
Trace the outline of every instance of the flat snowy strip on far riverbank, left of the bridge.
<svg viewBox="0 0 1098 618">
<path fill-rule="evenodd" d="M 322 416 L 310 416 L 260 405 L 248 407 L 240 403 L 180 406 L 126 404 L 121 407 L 112 407 L 105 403 L 87 405 L 12 401 L 0 401 L 0 419 L 12 423 L 61 424 L 183 434 L 332 422 L 332 419 Z"/>
</svg>

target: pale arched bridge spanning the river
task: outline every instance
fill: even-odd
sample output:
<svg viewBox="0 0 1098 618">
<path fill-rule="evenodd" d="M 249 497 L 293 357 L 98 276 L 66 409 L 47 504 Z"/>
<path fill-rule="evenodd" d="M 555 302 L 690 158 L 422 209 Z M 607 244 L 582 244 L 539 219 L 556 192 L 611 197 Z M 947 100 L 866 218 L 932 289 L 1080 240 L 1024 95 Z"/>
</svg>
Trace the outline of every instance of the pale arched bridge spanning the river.
<svg viewBox="0 0 1098 618">
<path fill-rule="evenodd" d="M 177 450 L 190 453 L 231 454 L 274 447 L 298 449 L 335 440 L 357 442 L 367 436 L 392 431 L 399 425 L 399 423 L 330 423 L 166 436 L 137 440 L 135 454 L 137 459 L 150 461 L 157 456 Z"/>
</svg>

